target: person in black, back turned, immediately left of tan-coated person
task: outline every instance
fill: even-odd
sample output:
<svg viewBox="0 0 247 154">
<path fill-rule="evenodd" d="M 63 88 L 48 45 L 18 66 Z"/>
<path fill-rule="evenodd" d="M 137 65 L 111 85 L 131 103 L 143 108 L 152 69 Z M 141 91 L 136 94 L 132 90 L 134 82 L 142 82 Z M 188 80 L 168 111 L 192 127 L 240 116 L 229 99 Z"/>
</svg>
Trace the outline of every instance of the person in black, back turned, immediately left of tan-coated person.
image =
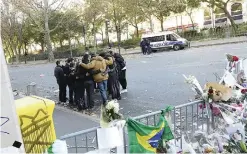
<svg viewBox="0 0 247 154">
<path fill-rule="evenodd" d="M 82 62 L 84 64 L 88 64 L 90 62 L 90 55 L 88 53 L 86 53 L 83 56 Z M 86 96 L 87 96 L 86 97 L 87 99 L 85 99 L 86 105 L 89 109 L 92 109 L 94 107 L 94 98 L 93 98 L 94 80 L 93 80 L 93 71 L 91 69 L 84 70 L 84 91 L 85 90 L 86 90 Z"/>
</svg>

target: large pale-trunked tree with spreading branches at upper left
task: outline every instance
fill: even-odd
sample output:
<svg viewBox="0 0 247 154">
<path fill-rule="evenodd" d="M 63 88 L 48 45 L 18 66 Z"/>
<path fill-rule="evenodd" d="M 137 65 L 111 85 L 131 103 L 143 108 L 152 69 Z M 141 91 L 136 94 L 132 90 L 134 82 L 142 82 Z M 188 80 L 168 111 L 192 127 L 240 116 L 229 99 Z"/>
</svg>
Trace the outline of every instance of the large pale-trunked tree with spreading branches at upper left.
<svg viewBox="0 0 247 154">
<path fill-rule="evenodd" d="M 53 62 L 55 59 L 50 34 L 59 26 L 63 18 L 58 21 L 56 27 L 53 29 L 49 27 L 49 18 L 53 11 L 60 10 L 63 7 L 63 0 L 52 0 L 50 3 L 48 0 L 12 0 L 12 4 L 15 4 L 18 9 L 26 14 L 32 20 L 32 23 L 37 26 L 37 30 L 44 34 L 44 42 L 48 51 L 48 61 Z"/>
</svg>

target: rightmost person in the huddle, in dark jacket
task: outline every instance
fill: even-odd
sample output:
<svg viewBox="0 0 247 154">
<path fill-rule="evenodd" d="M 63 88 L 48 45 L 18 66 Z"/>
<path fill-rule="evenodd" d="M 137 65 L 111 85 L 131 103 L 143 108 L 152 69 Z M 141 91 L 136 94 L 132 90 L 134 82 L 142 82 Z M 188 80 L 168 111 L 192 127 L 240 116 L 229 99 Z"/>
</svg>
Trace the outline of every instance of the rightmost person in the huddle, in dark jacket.
<svg viewBox="0 0 247 154">
<path fill-rule="evenodd" d="M 117 64 L 118 80 L 122 86 L 121 93 L 126 93 L 127 92 L 126 62 L 119 53 L 113 53 L 113 51 L 109 51 L 109 53 L 114 57 L 115 62 Z"/>
</svg>

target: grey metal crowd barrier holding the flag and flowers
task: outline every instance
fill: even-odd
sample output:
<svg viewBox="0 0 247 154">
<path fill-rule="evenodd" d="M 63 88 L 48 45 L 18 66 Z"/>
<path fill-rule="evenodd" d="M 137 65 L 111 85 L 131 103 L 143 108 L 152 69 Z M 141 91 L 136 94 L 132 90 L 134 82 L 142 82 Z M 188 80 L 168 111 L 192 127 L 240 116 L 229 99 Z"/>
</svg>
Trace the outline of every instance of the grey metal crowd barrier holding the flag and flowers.
<svg viewBox="0 0 247 154">
<path fill-rule="evenodd" d="M 182 147 L 181 136 L 184 134 L 188 139 L 192 139 L 192 134 L 199 128 L 204 131 L 209 131 L 213 124 L 213 116 L 208 110 L 200 108 L 203 101 L 194 101 L 187 104 L 175 106 L 171 111 L 172 115 L 172 130 L 176 138 L 178 146 Z M 152 112 L 149 114 L 134 117 L 135 120 L 147 125 L 155 125 L 161 111 Z M 79 131 L 76 133 L 62 136 L 60 139 L 66 140 L 70 153 L 85 153 L 91 150 L 98 149 L 97 145 L 97 128 Z M 125 152 L 128 152 L 128 137 L 127 129 L 124 129 L 124 144 Z M 114 152 L 114 149 L 112 150 Z"/>
</svg>

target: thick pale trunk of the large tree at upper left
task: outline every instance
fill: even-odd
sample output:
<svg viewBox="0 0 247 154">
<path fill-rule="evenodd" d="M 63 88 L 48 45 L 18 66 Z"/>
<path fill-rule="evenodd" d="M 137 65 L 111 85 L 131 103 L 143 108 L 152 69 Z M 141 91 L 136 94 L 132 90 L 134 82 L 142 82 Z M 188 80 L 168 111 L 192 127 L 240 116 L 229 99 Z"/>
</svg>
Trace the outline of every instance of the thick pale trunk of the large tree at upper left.
<svg viewBox="0 0 247 154">
<path fill-rule="evenodd" d="M 50 36 L 50 29 L 49 29 L 49 17 L 48 17 L 48 0 L 44 0 L 44 5 L 45 5 L 45 13 L 44 13 L 44 18 L 45 18 L 45 43 L 46 43 L 46 47 L 48 50 L 48 61 L 49 62 L 54 62 L 55 58 L 54 58 L 54 54 L 52 51 L 52 44 L 51 44 L 51 36 Z"/>
</svg>

